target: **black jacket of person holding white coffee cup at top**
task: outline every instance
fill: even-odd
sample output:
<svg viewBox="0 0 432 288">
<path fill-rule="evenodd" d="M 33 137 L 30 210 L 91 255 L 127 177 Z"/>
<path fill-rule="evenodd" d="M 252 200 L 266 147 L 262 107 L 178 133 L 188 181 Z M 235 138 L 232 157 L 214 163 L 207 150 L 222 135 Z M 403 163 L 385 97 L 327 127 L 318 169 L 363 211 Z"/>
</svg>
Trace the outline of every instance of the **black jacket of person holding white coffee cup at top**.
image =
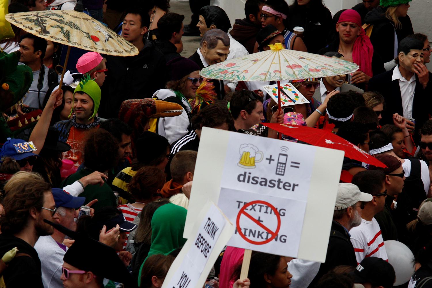
<svg viewBox="0 0 432 288">
<path fill-rule="evenodd" d="M 327 7 L 319 8 L 290 6 L 288 16 L 288 30 L 293 31 L 295 26 L 305 29 L 303 41 L 308 48 L 309 53 L 317 53 L 328 42 L 329 32 L 334 29 L 331 22 L 331 13 Z"/>
</svg>

